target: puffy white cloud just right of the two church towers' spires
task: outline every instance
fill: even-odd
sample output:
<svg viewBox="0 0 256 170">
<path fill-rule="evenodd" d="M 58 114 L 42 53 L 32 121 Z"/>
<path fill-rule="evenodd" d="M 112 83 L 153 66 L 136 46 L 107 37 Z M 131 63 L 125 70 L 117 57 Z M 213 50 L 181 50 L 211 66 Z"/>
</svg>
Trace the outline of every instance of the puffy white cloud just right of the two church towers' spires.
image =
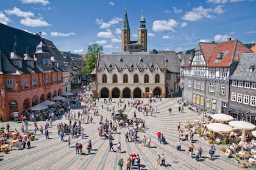
<svg viewBox="0 0 256 170">
<path fill-rule="evenodd" d="M 174 19 L 166 20 L 157 20 L 153 22 L 152 30 L 154 32 L 175 32 L 174 27 L 177 27 L 179 24 Z"/>
</svg>

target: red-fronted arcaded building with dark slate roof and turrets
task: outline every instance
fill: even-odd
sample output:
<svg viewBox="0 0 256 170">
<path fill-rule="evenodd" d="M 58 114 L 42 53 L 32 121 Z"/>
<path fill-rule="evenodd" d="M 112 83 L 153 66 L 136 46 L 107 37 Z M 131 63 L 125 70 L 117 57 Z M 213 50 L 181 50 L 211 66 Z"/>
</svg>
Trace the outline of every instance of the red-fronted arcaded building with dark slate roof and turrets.
<svg viewBox="0 0 256 170">
<path fill-rule="evenodd" d="M 63 60 L 51 41 L 0 24 L 2 120 L 18 119 L 30 107 L 70 90 Z"/>
</svg>

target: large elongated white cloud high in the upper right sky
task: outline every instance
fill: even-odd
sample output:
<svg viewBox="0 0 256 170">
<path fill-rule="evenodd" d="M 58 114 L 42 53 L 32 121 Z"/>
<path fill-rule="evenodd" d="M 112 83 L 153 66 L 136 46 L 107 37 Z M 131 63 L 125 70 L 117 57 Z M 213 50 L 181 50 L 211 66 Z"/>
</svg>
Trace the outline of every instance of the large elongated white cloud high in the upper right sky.
<svg viewBox="0 0 256 170">
<path fill-rule="evenodd" d="M 215 9 L 205 9 L 202 6 L 193 8 L 192 11 L 185 13 L 185 15 L 182 16 L 182 19 L 185 21 L 197 21 L 204 18 L 211 19 L 215 16 L 213 14 L 221 14 L 224 13 L 222 10 L 222 5 L 218 5 Z"/>
</svg>

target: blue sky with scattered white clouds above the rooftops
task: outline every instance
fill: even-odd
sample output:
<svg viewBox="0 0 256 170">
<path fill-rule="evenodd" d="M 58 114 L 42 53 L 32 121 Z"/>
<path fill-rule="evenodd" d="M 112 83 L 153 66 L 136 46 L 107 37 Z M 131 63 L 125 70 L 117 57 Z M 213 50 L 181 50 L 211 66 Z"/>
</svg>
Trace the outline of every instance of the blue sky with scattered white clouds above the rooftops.
<svg viewBox="0 0 256 170">
<path fill-rule="evenodd" d="M 132 41 L 138 40 L 144 11 L 148 51 L 193 49 L 198 39 L 256 41 L 256 0 L 1 0 L 0 22 L 41 32 L 66 52 L 86 54 L 92 43 L 104 53 L 121 52 L 125 6 Z"/>
</svg>

